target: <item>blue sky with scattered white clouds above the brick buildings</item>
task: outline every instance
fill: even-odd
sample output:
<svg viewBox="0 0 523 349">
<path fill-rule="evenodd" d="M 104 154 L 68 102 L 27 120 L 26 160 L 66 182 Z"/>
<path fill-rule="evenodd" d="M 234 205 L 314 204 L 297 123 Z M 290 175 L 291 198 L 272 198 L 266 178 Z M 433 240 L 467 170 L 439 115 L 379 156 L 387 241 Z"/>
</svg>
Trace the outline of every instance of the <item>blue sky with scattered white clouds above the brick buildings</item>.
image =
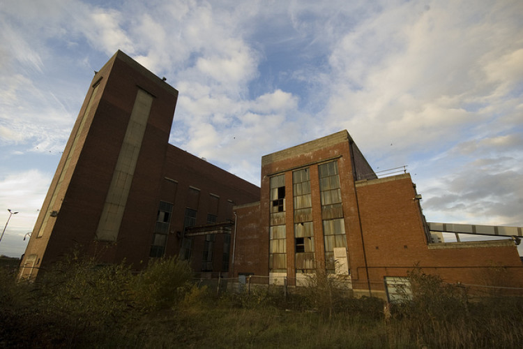
<svg viewBox="0 0 523 349">
<path fill-rule="evenodd" d="M 347 129 L 428 221 L 523 225 L 523 2 L 0 0 L 0 254 L 20 256 L 93 70 L 179 90 L 170 142 L 259 184 Z"/>
</svg>

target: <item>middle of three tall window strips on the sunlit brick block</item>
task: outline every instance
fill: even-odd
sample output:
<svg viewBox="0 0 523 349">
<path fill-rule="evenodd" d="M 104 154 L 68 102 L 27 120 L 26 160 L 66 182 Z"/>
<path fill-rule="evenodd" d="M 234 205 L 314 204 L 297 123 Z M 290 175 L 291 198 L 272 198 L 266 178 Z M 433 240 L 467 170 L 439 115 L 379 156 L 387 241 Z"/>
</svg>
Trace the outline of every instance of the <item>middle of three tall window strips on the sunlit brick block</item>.
<svg viewBox="0 0 523 349">
<path fill-rule="evenodd" d="M 312 273 L 314 258 L 314 230 L 312 228 L 312 200 L 308 168 L 292 172 L 294 204 L 294 249 L 296 273 Z"/>
</svg>

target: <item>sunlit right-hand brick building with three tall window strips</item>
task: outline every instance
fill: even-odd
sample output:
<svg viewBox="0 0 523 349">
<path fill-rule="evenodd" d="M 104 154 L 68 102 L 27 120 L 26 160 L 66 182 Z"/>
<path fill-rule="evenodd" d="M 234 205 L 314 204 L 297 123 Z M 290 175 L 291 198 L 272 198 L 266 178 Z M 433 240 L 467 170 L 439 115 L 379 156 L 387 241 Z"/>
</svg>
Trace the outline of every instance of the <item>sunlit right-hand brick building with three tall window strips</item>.
<svg viewBox="0 0 523 349">
<path fill-rule="evenodd" d="M 234 276 L 300 285 L 321 270 L 356 295 L 385 297 L 416 266 L 467 284 L 489 283 L 502 266 L 505 286 L 523 286 L 511 239 L 432 242 L 434 232 L 520 237 L 521 228 L 427 223 L 410 175 L 377 178 L 347 131 L 263 156 L 260 201 L 235 209 Z"/>
</svg>

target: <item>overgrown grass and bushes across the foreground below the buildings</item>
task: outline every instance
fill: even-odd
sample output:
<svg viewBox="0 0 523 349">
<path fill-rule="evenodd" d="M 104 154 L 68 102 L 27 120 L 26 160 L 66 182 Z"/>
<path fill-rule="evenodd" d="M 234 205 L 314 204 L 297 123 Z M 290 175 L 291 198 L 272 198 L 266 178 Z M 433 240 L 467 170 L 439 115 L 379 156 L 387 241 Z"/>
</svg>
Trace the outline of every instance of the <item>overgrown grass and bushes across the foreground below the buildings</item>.
<svg viewBox="0 0 523 349">
<path fill-rule="evenodd" d="M 190 282 L 187 263 L 70 258 L 36 283 L 0 270 L 2 348 L 520 348 L 520 298 L 469 302 L 463 288 L 411 273 L 414 296 L 384 316 L 380 299 L 317 279 L 285 296 L 224 293 Z M 321 275 L 319 276 L 321 278 Z"/>
</svg>

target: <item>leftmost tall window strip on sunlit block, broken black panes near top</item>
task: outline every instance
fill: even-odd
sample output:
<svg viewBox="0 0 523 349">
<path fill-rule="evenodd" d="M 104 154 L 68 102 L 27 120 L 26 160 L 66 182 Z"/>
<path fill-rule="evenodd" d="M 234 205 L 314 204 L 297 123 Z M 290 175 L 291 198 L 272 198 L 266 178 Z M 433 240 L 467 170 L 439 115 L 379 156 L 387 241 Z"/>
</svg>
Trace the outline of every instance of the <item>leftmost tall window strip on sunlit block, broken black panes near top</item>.
<svg viewBox="0 0 523 349">
<path fill-rule="evenodd" d="M 271 177 L 268 268 L 270 272 L 287 272 L 287 238 L 285 230 L 285 174 Z"/>
</svg>

